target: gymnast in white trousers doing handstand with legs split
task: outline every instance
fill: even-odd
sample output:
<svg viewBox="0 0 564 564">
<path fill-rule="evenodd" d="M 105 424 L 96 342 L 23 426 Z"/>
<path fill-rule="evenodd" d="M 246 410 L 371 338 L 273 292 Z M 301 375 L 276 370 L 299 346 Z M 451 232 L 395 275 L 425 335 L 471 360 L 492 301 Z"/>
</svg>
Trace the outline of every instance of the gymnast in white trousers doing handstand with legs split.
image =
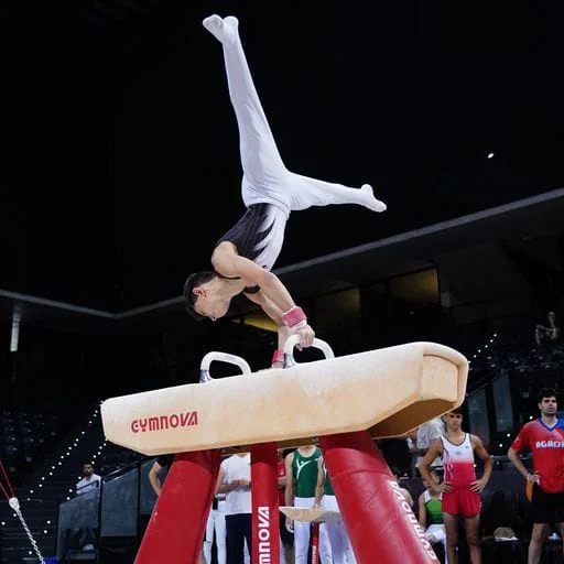
<svg viewBox="0 0 564 564">
<path fill-rule="evenodd" d="M 271 272 L 280 254 L 290 212 L 311 206 L 357 204 L 384 212 L 372 188 L 310 178 L 290 172 L 278 152 L 239 39 L 237 18 L 210 15 L 203 22 L 223 45 L 229 96 L 239 128 L 242 164 L 241 219 L 217 241 L 214 271 L 191 274 L 184 283 L 186 310 L 195 318 L 216 321 L 229 311 L 231 299 L 243 293 L 261 306 L 279 327 L 279 349 L 272 366 L 283 364 L 283 345 L 295 333 L 299 348 L 308 347 L 314 330 L 280 279 Z"/>
</svg>

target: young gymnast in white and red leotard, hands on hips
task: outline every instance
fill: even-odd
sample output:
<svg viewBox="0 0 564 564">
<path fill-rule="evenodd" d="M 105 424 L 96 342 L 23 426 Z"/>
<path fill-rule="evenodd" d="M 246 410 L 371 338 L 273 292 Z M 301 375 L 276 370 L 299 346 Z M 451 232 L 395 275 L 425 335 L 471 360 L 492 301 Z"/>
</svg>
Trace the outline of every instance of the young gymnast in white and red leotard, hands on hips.
<svg viewBox="0 0 564 564">
<path fill-rule="evenodd" d="M 436 494 L 443 492 L 443 520 L 446 532 L 448 564 L 456 564 L 458 542 L 458 519 L 466 525 L 466 540 L 470 551 L 470 562 L 481 564 L 480 549 L 480 492 L 488 484 L 494 462 L 481 440 L 462 430 L 463 409 L 457 408 L 444 417 L 446 432 L 434 441 L 420 464 L 420 473 Z M 484 474 L 476 478 L 474 455 L 484 462 Z M 431 476 L 433 460 L 441 456 L 445 469 L 444 481 L 437 485 Z"/>
</svg>

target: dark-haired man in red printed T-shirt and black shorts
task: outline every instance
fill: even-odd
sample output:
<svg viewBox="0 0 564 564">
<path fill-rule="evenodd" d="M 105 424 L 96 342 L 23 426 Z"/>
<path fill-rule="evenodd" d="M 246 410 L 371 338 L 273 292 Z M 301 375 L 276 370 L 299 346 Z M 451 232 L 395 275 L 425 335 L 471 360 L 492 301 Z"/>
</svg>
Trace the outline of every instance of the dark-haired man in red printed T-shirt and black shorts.
<svg viewBox="0 0 564 564">
<path fill-rule="evenodd" d="M 533 530 L 529 542 L 529 564 L 541 562 L 542 543 L 550 523 L 557 523 L 564 539 L 564 420 L 558 419 L 556 391 L 539 392 L 541 416 L 523 425 L 507 455 L 532 485 Z M 518 453 L 531 451 L 534 474 L 520 460 Z"/>
</svg>

